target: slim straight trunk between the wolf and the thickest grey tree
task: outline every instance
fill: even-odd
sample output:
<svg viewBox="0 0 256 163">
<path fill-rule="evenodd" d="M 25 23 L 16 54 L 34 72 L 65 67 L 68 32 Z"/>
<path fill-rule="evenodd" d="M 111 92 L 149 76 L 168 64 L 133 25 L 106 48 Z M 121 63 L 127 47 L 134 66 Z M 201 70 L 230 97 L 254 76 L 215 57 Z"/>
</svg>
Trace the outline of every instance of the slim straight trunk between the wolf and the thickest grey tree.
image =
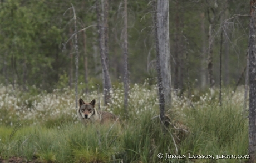
<svg viewBox="0 0 256 163">
<path fill-rule="evenodd" d="M 128 73 L 128 40 L 127 40 L 127 0 L 124 0 L 124 109 L 128 117 L 129 73 Z"/>
</svg>

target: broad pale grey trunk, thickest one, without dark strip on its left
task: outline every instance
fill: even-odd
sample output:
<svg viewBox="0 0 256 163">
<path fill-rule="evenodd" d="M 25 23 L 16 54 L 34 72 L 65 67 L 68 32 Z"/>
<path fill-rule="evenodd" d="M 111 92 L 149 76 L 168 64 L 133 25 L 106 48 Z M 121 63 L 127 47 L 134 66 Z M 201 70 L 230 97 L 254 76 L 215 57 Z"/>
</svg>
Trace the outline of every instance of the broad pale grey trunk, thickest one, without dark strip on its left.
<svg viewBox="0 0 256 163">
<path fill-rule="evenodd" d="M 169 1 L 157 1 L 157 39 L 159 45 L 159 61 L 165 105 L 171 107 L 171 66 L 169 41 Z M 163 118 L 164 111 L 160 113 Z"/>
</svg>

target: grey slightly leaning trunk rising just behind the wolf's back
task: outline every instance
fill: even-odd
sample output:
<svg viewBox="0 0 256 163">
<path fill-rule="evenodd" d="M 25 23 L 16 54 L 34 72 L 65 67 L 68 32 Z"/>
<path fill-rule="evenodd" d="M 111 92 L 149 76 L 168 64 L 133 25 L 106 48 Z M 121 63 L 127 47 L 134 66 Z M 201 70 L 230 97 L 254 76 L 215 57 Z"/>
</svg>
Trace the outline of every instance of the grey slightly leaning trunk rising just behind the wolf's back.
<svg viewBox="0 0 256 163">
<path fill-rule="evenodd" d="M 102 2 L 102 1 L 101 1 Z M 101 3 L 103 5 L 103 3 Z M 102 6 L 102 10 L 104 7 Z M 110 100 L 109 91 L 111 88 L 111 80 L 109 76 L 109 70 L 106 63 L 105 55 L 105 37 L 104 37 L 104 16 L 100 14 L 99 0 L 96 1 L 96 12 L 97 12 L 97 27 L 99 31 L 99 47 L 101 55 L 101 64 L 102 64 L 102 74 L 103 74 L 103 85 L 104 85 L 104 103 L 107 105 Z M 102 11 L 104 13 L 104 11 Z"/>
</svg>

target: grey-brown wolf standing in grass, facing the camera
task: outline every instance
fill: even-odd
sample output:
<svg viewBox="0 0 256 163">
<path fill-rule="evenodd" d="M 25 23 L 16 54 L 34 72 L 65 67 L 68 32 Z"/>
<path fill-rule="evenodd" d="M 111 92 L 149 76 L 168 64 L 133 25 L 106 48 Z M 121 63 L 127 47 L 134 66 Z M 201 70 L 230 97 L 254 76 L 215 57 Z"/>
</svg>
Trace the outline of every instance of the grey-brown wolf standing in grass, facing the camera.
<svg viewBox="0 0 256 163">
<path fill-rule="evenodd" d="M 109 113 L 107 111 L 98 111 L 95 109 L 96 101 L 93 99 L 91 103 L 85 103 L 82 99 L 79 99 L 79 108 L 77 110 L 77 115 L 83 124 L 87 125 L 92 122 L 99 122 L 100 124 L 106 122 L 119 122 L 119 117 Z"/>
</svg>

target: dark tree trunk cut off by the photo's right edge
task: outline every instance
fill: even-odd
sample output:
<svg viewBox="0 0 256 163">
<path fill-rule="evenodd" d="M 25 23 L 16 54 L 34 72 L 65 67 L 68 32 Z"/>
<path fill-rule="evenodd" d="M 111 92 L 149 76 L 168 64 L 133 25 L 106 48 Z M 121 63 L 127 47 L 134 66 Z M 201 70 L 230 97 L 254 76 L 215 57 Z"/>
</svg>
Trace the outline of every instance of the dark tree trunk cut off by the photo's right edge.
<svg viewBox="0 0 256 163">
<path fill-rule="evenodd" d="M 249 80 L 250 80 L 250 93 L 249 93 L 249 162 L 255 162 L 256 156 L 256 32 L 255 32 L 255 7 L 256 0 L 250 1 L 250 25 L 249 25 Z"/>
</svg>

